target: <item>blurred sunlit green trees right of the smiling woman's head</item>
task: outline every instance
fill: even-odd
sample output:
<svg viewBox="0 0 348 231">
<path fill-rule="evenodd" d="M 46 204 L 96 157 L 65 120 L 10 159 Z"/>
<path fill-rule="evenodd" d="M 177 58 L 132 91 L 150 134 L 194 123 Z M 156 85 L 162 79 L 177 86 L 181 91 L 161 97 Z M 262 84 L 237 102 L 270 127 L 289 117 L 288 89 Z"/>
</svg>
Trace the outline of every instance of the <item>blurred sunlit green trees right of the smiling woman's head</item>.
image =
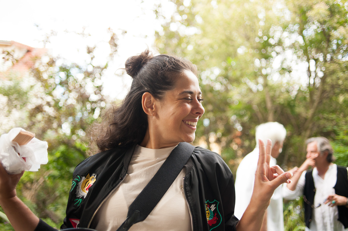
<svg viewBox="0 0 348 231">
<path fill-rule="evenodd" d="M 234 170 L 262 122 L 288 131 L 283 167 L 302 163 L 306 138 L 335 140 L 331 124 L 347 124 L 345 2 L 173 2 L 177 11 L 157 32 L 157 47 L 201 70 L 206 113 L 197 143 L 218 143 Z"/>
</svg>

